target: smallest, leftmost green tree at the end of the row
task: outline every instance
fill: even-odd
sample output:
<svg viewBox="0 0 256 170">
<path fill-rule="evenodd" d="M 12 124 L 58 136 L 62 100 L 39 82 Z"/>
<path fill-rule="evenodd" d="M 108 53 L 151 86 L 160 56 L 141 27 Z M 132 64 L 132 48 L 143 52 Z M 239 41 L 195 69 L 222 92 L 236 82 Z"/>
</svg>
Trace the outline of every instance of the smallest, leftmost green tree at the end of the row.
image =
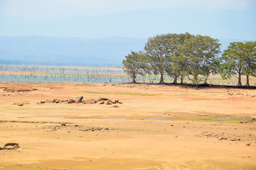
<svg viewBox="0 0 256 170">
<path fill-rule="evenodd" d="M 131 54 L 125 56 L 122 64 L 124 65 L 124 72 L 126 72 L 129 77 L 132 78 L 132 83 L 136 83 L 137 74 L 144 75 L 144 72 L 146 70 L 144 52 L 131 51 Z"/>
</svg>

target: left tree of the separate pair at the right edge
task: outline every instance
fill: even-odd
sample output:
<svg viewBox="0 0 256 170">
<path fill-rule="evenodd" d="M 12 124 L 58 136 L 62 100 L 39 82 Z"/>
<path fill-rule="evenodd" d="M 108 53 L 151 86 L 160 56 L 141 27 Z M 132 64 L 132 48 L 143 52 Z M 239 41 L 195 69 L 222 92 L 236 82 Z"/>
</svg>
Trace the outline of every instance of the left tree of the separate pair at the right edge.
<svg viewBox="0 0 256 170">
<path fill-rule="evenodd" d="M 241 76 L 245 67 L 243 46 L 242 42 L 231 42 L 228 49 L 224 50 L 220 64 L 220 75 L 223 79 L 228 79 L 232 76 L 237 77 L 238 86 L 242 86 Z"/>
</svg>

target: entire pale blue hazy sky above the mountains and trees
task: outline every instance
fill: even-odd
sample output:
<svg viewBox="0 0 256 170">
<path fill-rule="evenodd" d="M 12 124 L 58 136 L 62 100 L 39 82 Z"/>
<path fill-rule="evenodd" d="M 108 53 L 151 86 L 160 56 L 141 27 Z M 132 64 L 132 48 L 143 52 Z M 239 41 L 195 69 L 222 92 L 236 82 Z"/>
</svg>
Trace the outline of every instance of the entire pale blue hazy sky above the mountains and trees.
<svg viewBox="0 0 256 170">
<path fill-rule="evenodd" d="M 0 36 L 256 40 L 256 0 L 0 0 Z"/>
</svg>

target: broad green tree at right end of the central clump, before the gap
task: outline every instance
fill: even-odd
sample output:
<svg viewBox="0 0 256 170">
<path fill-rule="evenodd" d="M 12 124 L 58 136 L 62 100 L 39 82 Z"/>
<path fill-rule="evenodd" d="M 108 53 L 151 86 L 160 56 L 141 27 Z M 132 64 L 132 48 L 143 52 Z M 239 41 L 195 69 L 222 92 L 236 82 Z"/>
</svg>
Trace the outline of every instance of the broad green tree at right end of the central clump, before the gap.
<svg viewBox="0 0 256 170">
<path fill-rule="evenodd" d="M 183 53 L 188 57 L 188 79 L 193 84 L 198 84 L 201 79 L 199 75 L 205 77 L 205 83 L 210 74 L 217 73 L 218 55 L 220 54 L 220 43 L 218 39 L 209 36 L 196 35 L 184 41 Z M 189 74 L 193 76 L 191 79 Z"/>
</svg>

